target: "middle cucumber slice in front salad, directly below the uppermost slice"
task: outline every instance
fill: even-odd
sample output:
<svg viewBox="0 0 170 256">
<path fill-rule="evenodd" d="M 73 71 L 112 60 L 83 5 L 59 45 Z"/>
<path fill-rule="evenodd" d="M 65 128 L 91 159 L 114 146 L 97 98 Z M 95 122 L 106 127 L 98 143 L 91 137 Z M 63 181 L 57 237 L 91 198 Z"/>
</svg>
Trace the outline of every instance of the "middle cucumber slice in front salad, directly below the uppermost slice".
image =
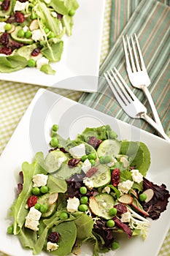
<svg viewBox="0 0 170 256">
<path fill-rule="evenodd" d="M 98 171 L 90 178 L 93 181 L 93 187 L 103 187 L 111 181 L 111 173 L 107 166 L 98 165 Z"/>
</svg>

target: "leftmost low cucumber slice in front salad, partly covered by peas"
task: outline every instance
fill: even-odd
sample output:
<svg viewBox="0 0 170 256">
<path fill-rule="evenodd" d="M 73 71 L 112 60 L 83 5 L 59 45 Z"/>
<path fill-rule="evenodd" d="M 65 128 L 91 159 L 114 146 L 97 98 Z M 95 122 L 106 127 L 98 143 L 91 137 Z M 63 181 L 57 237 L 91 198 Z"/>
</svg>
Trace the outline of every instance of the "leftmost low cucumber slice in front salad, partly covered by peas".
<svg viewBox="0 0 170 256">
<path fill-rule="evenodd" d="M 38 200 L 37 200 L 37 203 L 40 203 L 41 205 L 42 205 L 42 204 L 47 204 L 47 206 L 48 206 L 47 212 L 42 213 L 42 217 L 43 217 L 43 218 L 45 218 L 45 217 L 46 217 L 46 218 L 47 218 L 47 217 L 50 217 L 50 216 L 53 214 L 53 212 L 55 211 L 56 206 L 57 206 L 56 203 L 53 203 L 53 204 L 50 204 L 50 203 L 49 203 L 49 197 L 50 197 L 50 193 L 47 193 L 47 194 L 45 194 L 45 195 L 40 196 L 40 197 L 38 198 Z"/>
</svg>

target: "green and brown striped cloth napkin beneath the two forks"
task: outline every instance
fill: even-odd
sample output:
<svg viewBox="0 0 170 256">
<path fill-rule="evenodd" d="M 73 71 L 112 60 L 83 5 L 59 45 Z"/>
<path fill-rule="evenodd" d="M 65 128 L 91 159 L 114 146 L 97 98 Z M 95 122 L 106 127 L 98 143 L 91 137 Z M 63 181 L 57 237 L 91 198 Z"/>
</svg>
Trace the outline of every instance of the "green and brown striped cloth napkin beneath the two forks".
<svg viewBox="0 0 170 256">
<path fill-rule="evenodd" d="M 142 91 L 132 88 L 125 70 L 122 35 L 136 33 L 139 38 L 139 44 L 142 48 L 144 63 L 151 79 L 149 90 L 152 94 L 152 98 L 155 102 L 155 106 L 158 110 L 163 127 L 166 132 L 169 132 L 170 7 L 168 4 L 169 3 L 164 4 L 160 1 L 153 0 L 113 1 L 113 25 L 111 33 L 111 37 L 113 37 L 113 46 L 110 49 L 107 58 L 101 64 L 98 92 L 94 94 L 82 94 L 82 97 L 80 98 L 80 102 L 82 104 L 88 105 L 90 108 L 95 108 L 96 110 L 107 113 L 110 116 L 114 116 L 115 118 L 126 121 L 129 124 L 133 124 L 136 127 L 156 134 L 155 130 L 152 129 L 152 127 L 150 127 L 150 125 L 145 121 L 142 121 L 141 119 L 132 119 L 125 114 L 113 96 L 112 91 L 109 89 L 107 81 L 104 79 L 104 72 L 112 69 L 112 67 L 117 67 L 126 83 L 128 83 L 128 86 L 130 86 L 134 91 L 136 97 L 138 97 L 139 100 L 144 103 L 144 105 L 147 107 L 148 114 L 152 116 L 144 94 Z M 128 12 L 127 15 L 124 15 L 125 10 Z M 114 13 L 117 13 L 117 15 L 114 15 Z M 131 16 L 131 18 L 128 20 L 129 16 Z M 125 20 L 123 20 L 124 18 Z M 128 23 L 125 26 L 126 20 L 128 20 Z"/>
</svg>

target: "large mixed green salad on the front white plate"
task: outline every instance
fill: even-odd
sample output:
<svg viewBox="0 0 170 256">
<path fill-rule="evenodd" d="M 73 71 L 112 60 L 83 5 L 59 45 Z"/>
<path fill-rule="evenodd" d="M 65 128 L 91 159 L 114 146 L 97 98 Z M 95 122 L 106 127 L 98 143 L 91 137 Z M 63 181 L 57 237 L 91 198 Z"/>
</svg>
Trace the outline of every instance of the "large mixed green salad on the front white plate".
<svg viewBox="0 0 170 256">
<path fill-rule="evenodd" d="M 90 242 L 98 256 L 119 247 L 117 233 L 145 239 L 170 196 L 166 185 L 146 178 L 147 146 L 118 140 L 109 125 L 64 140 L 54 124 L 51 136 L 47 156 L 37 152 L 32 163 L 23 162 L 7 233 L 34 255 L 77 255 Z"/>
</svg>

